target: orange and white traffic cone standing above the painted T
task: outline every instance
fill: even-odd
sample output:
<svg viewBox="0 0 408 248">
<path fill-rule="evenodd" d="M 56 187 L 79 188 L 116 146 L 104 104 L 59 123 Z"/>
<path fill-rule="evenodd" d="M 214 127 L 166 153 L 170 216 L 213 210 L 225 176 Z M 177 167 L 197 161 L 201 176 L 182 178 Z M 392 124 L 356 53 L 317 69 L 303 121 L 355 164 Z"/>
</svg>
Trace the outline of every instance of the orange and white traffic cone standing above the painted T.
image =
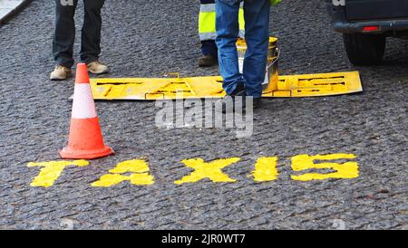
<svg viewBox="0 0 408 248">
<path fill-rule="evenodd" d="M 87 66 L 79 63 L 76 68 L 68 147 L 60 150 L 66 159 L 94 159 L 114 153 L 103 144 L 102 131 L 96 115 Z"/>
</svg>

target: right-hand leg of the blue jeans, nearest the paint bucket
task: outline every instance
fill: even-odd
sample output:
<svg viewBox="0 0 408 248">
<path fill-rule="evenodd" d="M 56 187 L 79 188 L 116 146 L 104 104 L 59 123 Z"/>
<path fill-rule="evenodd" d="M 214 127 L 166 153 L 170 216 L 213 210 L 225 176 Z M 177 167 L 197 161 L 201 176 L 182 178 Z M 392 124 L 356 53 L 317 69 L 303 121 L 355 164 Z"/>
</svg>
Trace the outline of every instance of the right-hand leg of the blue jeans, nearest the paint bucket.
<svg viewBox="0 0 408 248">
<path fill-rule="evenodd" d="M 244 61 L 245 88 L 248 96 L 260 98 L 267 67 L 269 41 L 269 0 L 245 2 L 245 39 L 248 50 Z"/>
</svg>

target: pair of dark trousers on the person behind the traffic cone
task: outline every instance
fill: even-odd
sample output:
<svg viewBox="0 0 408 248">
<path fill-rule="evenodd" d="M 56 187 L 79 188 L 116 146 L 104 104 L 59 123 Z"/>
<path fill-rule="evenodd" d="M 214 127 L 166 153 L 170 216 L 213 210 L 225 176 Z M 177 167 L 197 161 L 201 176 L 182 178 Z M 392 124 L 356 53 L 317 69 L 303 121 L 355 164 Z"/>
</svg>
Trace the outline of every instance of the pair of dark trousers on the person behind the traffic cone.
<svg viewBox="0 0 408 248">
<path fill-rule="evenodd" d="M 55 0 L 55 33 L 53 37 L 53 57 L 59 65 L 73 67 L 73 43 L 75 40 L 75 14 L 78 0 Z M 81 61 L 94 62 L 101 53 L 101 9 L 104 0 L 83 0 L 84 20 L 81 33 Z"/>
</svg>

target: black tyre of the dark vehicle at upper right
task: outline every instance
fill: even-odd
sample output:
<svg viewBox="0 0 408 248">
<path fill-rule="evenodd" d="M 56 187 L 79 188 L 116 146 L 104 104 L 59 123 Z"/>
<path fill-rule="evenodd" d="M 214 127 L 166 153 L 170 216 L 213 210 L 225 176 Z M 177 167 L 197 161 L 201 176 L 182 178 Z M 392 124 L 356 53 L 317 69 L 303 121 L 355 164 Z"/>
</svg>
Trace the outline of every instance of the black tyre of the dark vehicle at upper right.
<svg viewBox="0 0 408 248">
<path fill-rule="evenodd" d="M 377 34 L 343 33 L 348 59 L 355 65 L 374 65 L 382 62 L 386 37 Z"/>
</svg>

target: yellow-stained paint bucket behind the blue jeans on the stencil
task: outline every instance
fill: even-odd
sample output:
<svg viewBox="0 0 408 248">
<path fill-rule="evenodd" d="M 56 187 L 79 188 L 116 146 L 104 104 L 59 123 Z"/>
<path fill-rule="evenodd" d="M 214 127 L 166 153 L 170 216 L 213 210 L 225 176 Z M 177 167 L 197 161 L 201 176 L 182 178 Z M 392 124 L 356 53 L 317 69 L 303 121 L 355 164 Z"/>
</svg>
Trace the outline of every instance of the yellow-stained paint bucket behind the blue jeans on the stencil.
<svg viewBox="0 0 408 248">
<path fill-rule="evenodd" d="M 247 52 L 247 43 L 244 39 L 238 39 L 237 42 L 239 72 L 244 72 L 244 59 Z M 277 38 L 269 37 L 269 45 L 267 49 L 267 69 L 265 81 L 262 83 L 263 93 L 277 91 L 277 61 L 279 52 L 277 48 Z"/>
</svg>

